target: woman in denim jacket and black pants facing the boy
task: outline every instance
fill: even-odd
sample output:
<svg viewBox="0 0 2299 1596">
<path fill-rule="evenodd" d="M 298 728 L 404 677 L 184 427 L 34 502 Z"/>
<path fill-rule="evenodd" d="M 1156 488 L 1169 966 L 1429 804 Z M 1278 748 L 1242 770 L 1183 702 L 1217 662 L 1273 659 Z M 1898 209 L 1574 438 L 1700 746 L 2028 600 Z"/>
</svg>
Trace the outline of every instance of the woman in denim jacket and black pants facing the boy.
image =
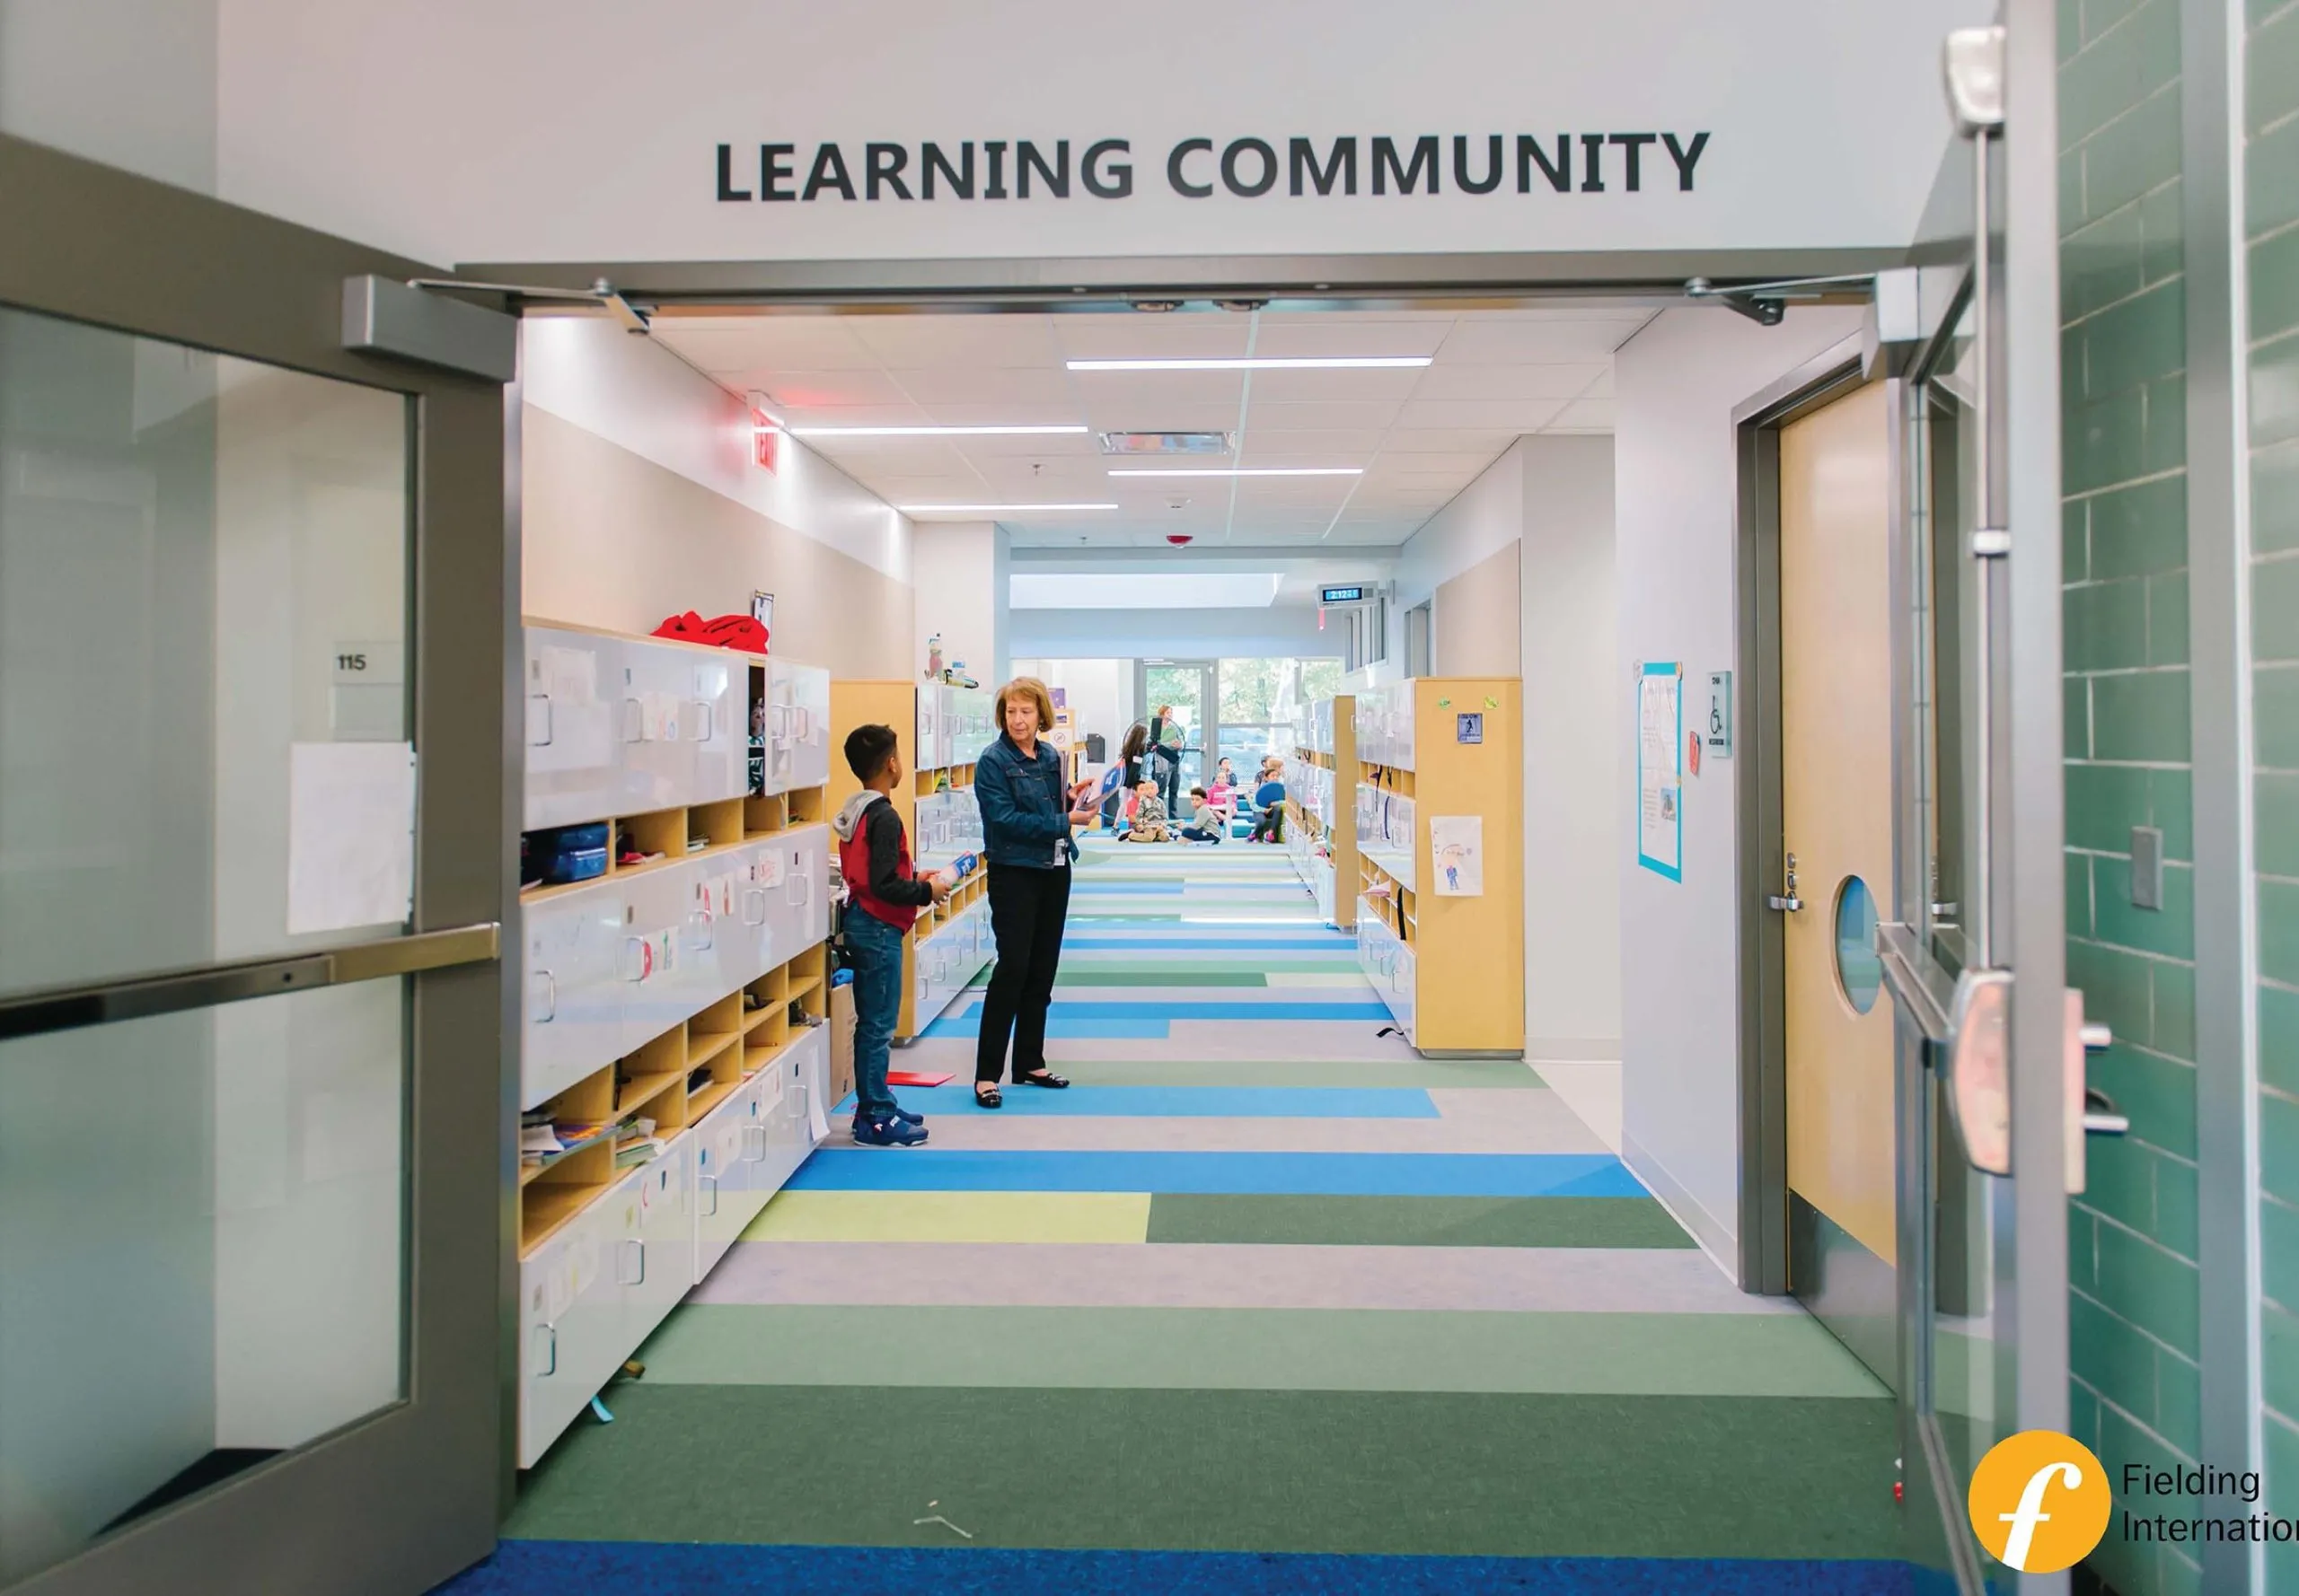
<svg viewBox="0 0 2299 1596">
<path fill-rule="evenodd" d="M 975 765 L 982 806 L 982 854 L 991 870 L 991 932 L 998 967 L 982 997 L 975 1043 L 975 1105 L 1005 1105 L 998 1082 L 1014 1045 L 1016 1086 L 1069 1086 L 1046 1068 L 1046 1008 L 1062 964 L 1069 921 L 1069 868 L 1078 857 L 1071 827 L 1090 827 L 1092 808 L 1074 808 L 1062 778 L 1062 756 L 1039 742 L 1053 723 L 1046 684 L 1018 675 L 998 689 L 998 742 Z"/>
</svg>

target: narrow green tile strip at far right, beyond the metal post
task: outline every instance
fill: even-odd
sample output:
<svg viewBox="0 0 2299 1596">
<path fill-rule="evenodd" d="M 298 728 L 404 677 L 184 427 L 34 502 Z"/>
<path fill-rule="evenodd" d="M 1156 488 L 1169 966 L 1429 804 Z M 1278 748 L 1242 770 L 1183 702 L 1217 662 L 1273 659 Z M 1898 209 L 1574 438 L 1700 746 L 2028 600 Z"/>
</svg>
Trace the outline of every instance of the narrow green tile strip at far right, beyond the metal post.
<svg viewBox="0 0 2299 1596">
<path fill-rule="evenodd" d="M 2253 0 L 2244 44 L 2260 1385 L 2267 1500 L 2299 1513 L 2299 5 Z M 2292 1548 L 2267 1589 L 2299 1594 Z"/>
</svg>

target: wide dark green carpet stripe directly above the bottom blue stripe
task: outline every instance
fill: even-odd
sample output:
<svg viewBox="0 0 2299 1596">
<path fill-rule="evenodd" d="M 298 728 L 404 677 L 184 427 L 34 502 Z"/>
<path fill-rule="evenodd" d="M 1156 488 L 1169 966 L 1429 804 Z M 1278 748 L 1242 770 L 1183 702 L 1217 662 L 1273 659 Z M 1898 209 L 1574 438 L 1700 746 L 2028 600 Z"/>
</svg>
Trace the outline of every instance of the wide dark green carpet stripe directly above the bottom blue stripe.
<svg viewBox="0 0 2299 1596">
<path fill-rule="evenodd" d="M 931 1359 L 940 1348 L 910 1348 Z M 1037 1348 L 1000 1348 L 1028 1364 Z M 621 1382 L 508 1534 L 1897 1557 L 1890 1403 Z M 936 1506 L 926 1506 L 933 1502 Z"/>
</svg>

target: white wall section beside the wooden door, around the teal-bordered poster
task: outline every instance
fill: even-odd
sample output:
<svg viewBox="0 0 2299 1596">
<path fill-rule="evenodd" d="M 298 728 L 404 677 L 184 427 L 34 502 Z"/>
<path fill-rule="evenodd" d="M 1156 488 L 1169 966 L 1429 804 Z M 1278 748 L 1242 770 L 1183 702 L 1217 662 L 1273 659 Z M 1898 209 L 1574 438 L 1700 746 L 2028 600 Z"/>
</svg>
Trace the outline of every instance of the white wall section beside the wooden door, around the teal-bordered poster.
<svg viewBox="0 0 2299 1596">
<path fill-rule="evenodd" d="M 1733 406 L 1858 331 L 1860 312 L 1837 308 L 1791 310 L 1773 328 L 1722 308 L 1669 310 L 1616 356 L 1616 769 L 1632 769 L 1639 661 L 1678 661 L 1694 682 L 1736 668 Z M 1681 884 L 1637 866 L 1635 806 L 1614 813 L 1623 1155 L 1731 1261 L 1743 891 L 1731 767 L 1710 762 L 1685 788 Z"/>
</svg>

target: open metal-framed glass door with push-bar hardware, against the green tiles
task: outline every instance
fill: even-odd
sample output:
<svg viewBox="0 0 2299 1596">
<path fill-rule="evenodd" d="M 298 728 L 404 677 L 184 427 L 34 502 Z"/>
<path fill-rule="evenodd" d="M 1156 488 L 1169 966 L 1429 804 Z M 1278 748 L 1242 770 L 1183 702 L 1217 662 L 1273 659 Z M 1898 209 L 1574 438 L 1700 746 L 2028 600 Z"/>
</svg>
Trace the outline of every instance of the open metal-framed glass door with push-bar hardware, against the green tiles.
<svg viewBox="0 0 2299 1596">
<path fill-rule="evenodd" d="M 1970 227 L 1931 241 L 1947 264 L 1922 276 L 1929 338 L 1894 383 L 1894 884 L 1876 935 L 1897 1013 L 1910 1552 L 1966 1594 L 2067 1589 L 1991 1557 L 2005 1529 L 1975 1525 L 1968 1490 L 1998 1440 L 2069 1426 L 2067 1194 L 2083 1132 L 2117 1125 L 2085 1111 L 2092 1033 L 2060 914 L 2053 14 L 2007 16 L 1947 44 L 1940 197 L 1961 191 Z"/>
</svg>

